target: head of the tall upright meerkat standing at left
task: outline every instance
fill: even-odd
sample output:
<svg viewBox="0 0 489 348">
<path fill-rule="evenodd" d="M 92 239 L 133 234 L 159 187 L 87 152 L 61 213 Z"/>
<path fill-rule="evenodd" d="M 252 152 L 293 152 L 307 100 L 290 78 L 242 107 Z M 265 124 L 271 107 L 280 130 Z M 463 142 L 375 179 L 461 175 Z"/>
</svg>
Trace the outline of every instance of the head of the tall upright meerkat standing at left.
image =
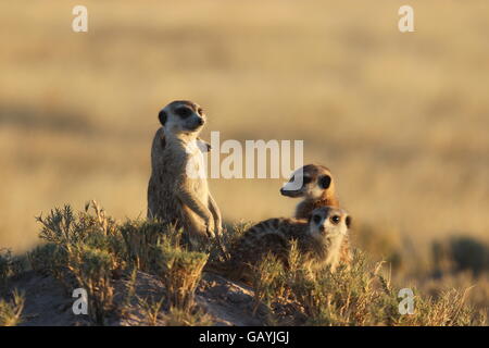
<svg viewBox="0 0 489 348">
<path fill-rule="evenodd" d="M 176 100 L 163 108 L 159 114 L 165 134 L 199 135 L 206 116 L 203 109 L 188 100 Z"/>
</svg>

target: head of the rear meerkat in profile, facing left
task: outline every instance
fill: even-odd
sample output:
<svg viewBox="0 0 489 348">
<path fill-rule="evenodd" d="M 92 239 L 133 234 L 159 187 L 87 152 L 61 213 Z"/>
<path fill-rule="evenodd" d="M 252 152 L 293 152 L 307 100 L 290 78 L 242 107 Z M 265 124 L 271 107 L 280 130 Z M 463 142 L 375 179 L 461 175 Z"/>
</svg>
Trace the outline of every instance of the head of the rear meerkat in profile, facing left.
<svg viewBox="0 0 489 348">
<path fill-rule="evenodd" d="M 335 183 L 326 166 L 308 164 L 293 172 L 290 181 L 280 188 L 287 197 L 319 199 L 335 195 Z"/>
</svg>

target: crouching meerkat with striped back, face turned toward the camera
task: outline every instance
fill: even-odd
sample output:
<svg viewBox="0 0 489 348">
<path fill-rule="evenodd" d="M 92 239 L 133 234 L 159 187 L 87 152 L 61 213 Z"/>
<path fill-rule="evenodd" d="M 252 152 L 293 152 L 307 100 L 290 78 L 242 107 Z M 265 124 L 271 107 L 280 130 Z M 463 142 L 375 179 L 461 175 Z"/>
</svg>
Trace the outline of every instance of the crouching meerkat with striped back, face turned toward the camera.
<svg viewBox="0 0 489 348">
<path fill-rule="evenodd" d="M 301 260 L 310 269 L 330 266 L 334 272 L 350 224 L 348 212 L 335 207 L 317 208 L 309 220 L 279 217 L 263 221 L 249 228 L 231 248 L 228 275 L 250 282 L 253 265 L 267 253 L 288 268 L 292 240 L 297 241 Z"/>
</svg>

